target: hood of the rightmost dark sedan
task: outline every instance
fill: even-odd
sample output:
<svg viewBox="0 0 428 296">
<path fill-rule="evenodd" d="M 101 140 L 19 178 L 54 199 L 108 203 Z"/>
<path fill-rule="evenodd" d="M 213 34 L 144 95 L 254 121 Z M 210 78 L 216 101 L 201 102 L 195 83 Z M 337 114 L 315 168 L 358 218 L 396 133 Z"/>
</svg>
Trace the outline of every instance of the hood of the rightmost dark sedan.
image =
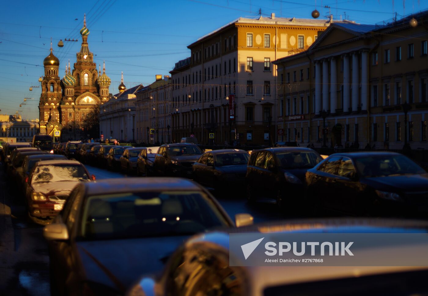
<svg viewBox="0 0 428 296">
<path fill-rule="evenodd" d="M 364 178 L 365 183 L 379 190 L 400 189 L 405 192 L 428 191 L 428 174 Z"/>
</svg>

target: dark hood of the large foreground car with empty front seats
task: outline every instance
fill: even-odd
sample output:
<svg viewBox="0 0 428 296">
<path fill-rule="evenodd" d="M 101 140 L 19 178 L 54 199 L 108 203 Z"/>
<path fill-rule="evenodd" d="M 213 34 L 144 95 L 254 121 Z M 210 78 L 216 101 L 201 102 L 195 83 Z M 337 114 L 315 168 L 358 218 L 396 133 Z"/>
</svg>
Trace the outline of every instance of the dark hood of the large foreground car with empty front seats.
<svg viewBox="0 0 428 296">
<path fill-rule="evenodd" d="M 160 272 L 172 252 L 188 237 L 98 240 L 76 245 L 86 279 L 117 289 L 115 281 L 128 288 L 141 275 Z"/>
</svg>

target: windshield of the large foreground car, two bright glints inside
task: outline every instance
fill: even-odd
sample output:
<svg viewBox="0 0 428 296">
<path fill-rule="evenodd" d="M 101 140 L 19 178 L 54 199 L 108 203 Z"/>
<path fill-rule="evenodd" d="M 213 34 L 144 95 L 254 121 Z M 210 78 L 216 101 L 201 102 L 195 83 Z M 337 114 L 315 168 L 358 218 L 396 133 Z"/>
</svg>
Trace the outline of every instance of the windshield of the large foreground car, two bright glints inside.
<svg viewBox="0 0 428 296">
<path fill-rule="evenodd" d="M 80 237 L 87 240 L 192 235 L 229 223 L 203 192 L 96 195 L 86 200 Z"/>
</svg>

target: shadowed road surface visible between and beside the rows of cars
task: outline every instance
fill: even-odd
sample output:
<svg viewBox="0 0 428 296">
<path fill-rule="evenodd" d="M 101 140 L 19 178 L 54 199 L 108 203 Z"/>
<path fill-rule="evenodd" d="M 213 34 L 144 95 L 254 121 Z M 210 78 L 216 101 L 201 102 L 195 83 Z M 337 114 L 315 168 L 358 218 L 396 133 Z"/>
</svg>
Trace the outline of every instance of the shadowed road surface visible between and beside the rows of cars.
<svg viewBox="0 0 428 296">
<path fill-rule="evenodd" d="M 97 180 L 127 178 L 118 172 L 86 167 Z M 13 194 L 7 181 L 0 164 L 0 295 L 49 296 L 49 255 L 43 227 L 28 220 L 23 199 Z M 273 201 L 250 205 L 244 195 L 217 199 L 232 219 L 237 213 L 250 213 L 256 223 L 286 218 Z"/>
</svg>

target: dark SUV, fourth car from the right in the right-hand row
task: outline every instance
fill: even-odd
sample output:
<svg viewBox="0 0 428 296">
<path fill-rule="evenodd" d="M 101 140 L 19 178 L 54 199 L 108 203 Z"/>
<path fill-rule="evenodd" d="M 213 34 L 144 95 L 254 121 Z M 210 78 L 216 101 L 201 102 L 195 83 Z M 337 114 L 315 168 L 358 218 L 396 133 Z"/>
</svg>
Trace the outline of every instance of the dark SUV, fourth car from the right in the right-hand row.
<svg viewBox="0 0 428 296">
<path fill-rule="evenodd" d="M 164 144 L 159 147 L 153 163 L 157 176 L 192 177 L 192 166 L 201 156 L 202 151 L 195 144 Z"/>
</svg>

